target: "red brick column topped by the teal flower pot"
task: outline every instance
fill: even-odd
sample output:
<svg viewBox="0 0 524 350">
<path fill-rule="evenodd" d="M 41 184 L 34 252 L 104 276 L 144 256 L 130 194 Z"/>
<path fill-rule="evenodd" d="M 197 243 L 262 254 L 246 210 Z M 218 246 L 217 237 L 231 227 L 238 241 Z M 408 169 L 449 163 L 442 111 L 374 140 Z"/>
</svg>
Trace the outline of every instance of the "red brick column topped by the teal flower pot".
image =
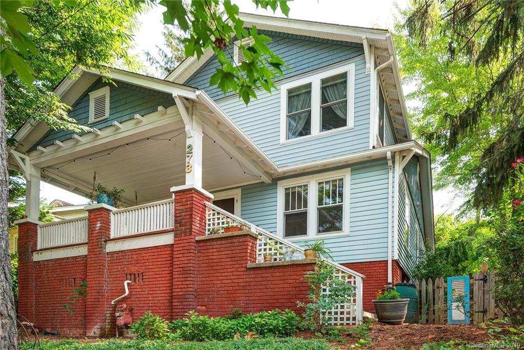
<svg viewBox="0 0 524 350">
<path fill-rule="evenodd" d="M 106 204 L 85 207 L 88 211 L 88 256 L 85 297 L 85 334 L 105 335 L 105 312 L 107 301 L 107 253 L 105 242 L 111 237 L 111 211 L 115 208 Z"/>
</svg>

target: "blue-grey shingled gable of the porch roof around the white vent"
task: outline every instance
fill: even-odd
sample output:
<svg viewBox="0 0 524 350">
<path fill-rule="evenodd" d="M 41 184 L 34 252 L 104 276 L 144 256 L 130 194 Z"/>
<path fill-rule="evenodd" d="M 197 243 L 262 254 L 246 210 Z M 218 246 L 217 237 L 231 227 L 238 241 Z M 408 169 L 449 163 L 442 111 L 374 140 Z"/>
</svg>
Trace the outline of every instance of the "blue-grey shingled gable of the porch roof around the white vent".
<svg viewBox="0 0 524 350">
<path fill-rule="evenodd" d="M 122 81 L 114 81 L 114 84 L 104 82 L 102 79 L 96 80 L 91 87 L 89 87 L 82 96 L 72 105 L 72 110 L 69 111 L 69 116 L 76 120 L 78 124 L 91 126 L 92 128 L 102 129 L 110 126 L 113 121 L 123 122 L 133 119 L 133 116 L 138 113 L 145 115 L 155 112 L 158 106 L 165 108 L 174 105 L 174 100 L 170 94 L 141 88 L 128 84 Z M 110 87 L 110 111 L 109 118 L 98 123 L 89 124 L 89 92 L 98 90 L 105 86 Z M 55 140 L 64 141 L 71 139 L 74 132 L 67 130 L 49 130 L 46 135 L 42 137 L 32 149 L 37 146 L 46 147 L 52 144 Z M 31 150 L 32 150 L 31 149 Z"/>
</svg>

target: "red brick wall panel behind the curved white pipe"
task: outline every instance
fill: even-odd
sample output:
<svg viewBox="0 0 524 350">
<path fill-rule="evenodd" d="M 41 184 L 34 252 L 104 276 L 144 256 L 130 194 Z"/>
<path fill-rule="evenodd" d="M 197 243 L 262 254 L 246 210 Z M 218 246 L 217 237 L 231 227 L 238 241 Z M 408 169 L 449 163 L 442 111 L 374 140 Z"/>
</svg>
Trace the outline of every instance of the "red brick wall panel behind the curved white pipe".
<svg viewBox="0 0 524 350">
<path fill-rule="evenodd" d="M 124 281 L 128 279 L 132 282 L 128 284 L 129 295 L 118 303 L 133 307 L 135 320 L 148 310 L 171 320 L 172 262 L 172 245 L 108 253 L 107 300 L 111 303 L 124 294 Z"/>
</svg>

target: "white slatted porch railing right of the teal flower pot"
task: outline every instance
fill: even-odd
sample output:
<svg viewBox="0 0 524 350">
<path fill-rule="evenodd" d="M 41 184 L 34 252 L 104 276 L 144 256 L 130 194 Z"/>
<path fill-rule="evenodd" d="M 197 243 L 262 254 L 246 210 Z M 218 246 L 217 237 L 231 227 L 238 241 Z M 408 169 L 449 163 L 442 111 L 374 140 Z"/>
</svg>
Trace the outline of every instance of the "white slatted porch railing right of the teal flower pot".
<svg viewBox="0 0 524 350">
<path fill-rule="evenodd" d="M 173 227 L 173 199 L 115 210 L 111 215 L 111 237 L 143 234 Z"/>
</svg>

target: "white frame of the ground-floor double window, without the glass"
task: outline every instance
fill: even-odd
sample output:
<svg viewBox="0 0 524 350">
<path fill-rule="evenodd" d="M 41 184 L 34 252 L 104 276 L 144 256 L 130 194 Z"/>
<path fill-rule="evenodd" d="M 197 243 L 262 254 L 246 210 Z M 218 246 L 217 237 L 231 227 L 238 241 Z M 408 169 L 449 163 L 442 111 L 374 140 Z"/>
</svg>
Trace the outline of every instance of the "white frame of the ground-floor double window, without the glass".
<svg viewBox="0 0 524 350">
<path fill-rule="evenodd" d="M 344 194 L 342 205 L 342 231 L 318 234 L 318 183 L 343 178 Z M 303 236 L 284 237 L 284 201 L 285 189 L 290 186 L 308 184 L 308 232 Z M 351 168 L 345 168 L 328 173 L 294 177 L 281 180 L 277 183 L 277 235 L 289 241 L 303 241 L 309 239 L 346 236 L 350 234 L 350 189 Z"/>
</svg>

